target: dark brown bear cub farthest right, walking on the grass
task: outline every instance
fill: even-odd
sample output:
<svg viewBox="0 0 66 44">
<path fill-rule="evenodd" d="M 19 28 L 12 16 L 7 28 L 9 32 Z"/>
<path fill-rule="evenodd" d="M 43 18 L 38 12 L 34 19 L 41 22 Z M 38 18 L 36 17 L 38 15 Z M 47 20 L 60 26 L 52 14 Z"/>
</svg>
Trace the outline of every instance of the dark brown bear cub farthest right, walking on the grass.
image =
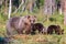
<svg viewBox="0 0 66 44">
<path fill-rule="evenodd" d="M 56 34 L 64 34 L 64 30 L 61 29 L 59 25 L 50 25 L 47 28 L 47 34 L 53 34 L 55 32 Z"/>
</svg>

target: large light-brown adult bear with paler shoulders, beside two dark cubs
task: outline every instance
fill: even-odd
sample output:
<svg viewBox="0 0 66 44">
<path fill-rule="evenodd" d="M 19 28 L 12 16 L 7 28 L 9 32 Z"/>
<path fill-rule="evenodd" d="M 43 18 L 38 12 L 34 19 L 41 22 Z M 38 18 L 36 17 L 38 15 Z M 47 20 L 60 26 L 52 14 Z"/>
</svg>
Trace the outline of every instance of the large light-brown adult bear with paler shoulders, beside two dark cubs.
<svg viewBox="0 0 66 44">
<path fill-rule="evenodd" d="M 31 32 L 32 24 L 35 23 L 35 15 L 13 16 L 7 22 L 7 34 L 13 35 L 14 31 L 22 34 L 25 31 L 26 34 Z"/>
</svg>

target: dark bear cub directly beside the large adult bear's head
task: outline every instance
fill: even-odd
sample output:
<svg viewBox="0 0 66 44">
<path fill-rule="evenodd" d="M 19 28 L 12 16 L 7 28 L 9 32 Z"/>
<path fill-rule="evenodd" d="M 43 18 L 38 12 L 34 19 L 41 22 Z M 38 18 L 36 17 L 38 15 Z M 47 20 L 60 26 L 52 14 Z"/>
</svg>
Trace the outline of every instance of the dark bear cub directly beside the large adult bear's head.
<svg viewBox="0 0 66 44">
<path fill-rule="evenodd" d="M 34 23 L 32 26 L 32 34 L 35 34 L 35 31 L 38 31 L 38 33 L 46 34 L 46 29 L 42 23 Z"/>
</svg>

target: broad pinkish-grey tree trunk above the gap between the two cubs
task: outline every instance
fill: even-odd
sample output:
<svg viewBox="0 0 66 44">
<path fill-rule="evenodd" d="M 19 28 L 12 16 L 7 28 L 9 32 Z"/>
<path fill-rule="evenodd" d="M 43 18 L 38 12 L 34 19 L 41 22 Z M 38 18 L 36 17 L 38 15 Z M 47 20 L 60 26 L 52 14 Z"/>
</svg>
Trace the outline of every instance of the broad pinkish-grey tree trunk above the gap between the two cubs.
<svg viewBox="0 0 66 44">
<path fill-rule="evenodd" d="M 45 0 L 44 13 L 45 14 L 52 14 L 52 0 Z"/>
</svg>

